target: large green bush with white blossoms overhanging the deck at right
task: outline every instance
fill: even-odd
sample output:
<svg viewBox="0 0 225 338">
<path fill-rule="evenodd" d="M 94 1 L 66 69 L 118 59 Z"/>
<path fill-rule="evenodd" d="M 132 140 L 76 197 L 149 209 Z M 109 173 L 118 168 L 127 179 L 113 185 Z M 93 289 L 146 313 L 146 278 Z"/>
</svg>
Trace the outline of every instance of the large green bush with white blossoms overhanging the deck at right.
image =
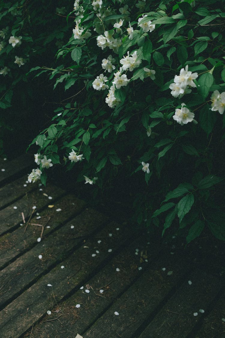
<svg viewBox="0 0 225 338">
<path fill-rule="evenodd" d="M 45 184 L 61 164 L 95 196 L 119 185 L 139 224 L 224 240 L 224 0 L 71 9 L 75 28 L 49 71 L 68 99 L 32 142 L 42 160 L 30 180 Z"/>
</svg>

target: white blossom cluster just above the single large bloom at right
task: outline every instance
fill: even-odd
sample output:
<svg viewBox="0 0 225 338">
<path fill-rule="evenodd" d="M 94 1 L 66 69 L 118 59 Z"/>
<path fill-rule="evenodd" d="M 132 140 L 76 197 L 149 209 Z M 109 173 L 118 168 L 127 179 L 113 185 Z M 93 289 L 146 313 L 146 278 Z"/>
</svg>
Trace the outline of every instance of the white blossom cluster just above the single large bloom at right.
<svg viewBox="0 0 225 338">
<path fill-rule="evenodd" d="M 180 70 L 180 75 L 175 75 L 174 83 L 169 88 L 172 89 L 171 94 L 174 97 L 181 98 L 184 94 L 191 93 L 191 88 L 195 88 L 196 84 L 193 80 L 198 77 L 198 73 L 188 71 L 188 65 Z"/>
</svg>

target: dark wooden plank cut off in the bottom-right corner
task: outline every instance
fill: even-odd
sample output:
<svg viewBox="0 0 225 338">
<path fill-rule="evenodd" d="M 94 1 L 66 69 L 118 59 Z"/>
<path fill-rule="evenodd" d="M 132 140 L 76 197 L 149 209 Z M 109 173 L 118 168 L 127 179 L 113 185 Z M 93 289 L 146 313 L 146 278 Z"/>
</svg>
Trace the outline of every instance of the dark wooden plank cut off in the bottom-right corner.
<svg viewBox="0 0 225 338">
<path fill-rule="evenodd" d="M 213 304 L 213 308 L 205 309 L 201 316 L 202 326 L 191 332 L 193 338 L 212 338 L 225 337 L 225 293 L 219 295 L 218 301 Z"/>
</svg>

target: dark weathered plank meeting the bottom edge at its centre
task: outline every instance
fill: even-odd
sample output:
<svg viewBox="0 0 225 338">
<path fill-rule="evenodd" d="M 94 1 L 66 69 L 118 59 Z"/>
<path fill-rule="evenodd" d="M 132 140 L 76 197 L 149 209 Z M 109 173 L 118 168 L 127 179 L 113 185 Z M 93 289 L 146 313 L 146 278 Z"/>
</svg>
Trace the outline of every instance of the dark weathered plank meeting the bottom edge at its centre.
<svg viewBox="0 0 225 338">
<path fill-rule="evenodd" d="M 88 331 L 82 333 L 84 337 L 103 338 L 108 337 L 109 332 L 111 338 L 133 337 L 137 328 L 149 315 L 157 314 L 165 299 L 171 296 L 186 278 L 190 265 L 182 265 L 182 261 L 184 261 L 182 256 L 174 257 L 168 252 L 166 257 L 165 252 L 163 257 L 153 263 Z M 166 271 L 162 271 L 163 267 L 167 268 Z M 167 275 L 168 271 L 173 273 Z M 119 315 L 114 315 L 115 311 Z M 143 337 L 157 336 L 150 334 Z M 161 337 L 167 336 L 161 335 Z"/>
</svg>

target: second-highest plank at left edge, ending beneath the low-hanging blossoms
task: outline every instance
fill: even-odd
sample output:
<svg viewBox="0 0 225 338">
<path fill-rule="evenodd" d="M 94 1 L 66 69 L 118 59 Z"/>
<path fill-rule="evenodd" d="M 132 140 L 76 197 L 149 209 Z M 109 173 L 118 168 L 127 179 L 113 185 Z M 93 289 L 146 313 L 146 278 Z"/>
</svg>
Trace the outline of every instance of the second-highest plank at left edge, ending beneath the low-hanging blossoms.
<svg viewBox="0 0 225 338">
<path fill-rule="evenodd" d="M 0 209 L 5 208 L 8 204 L 37 188 L 38 183 L 30 184 L 26 183 L 26 181 L 27 175 L 0 188 Z"/>
</svg>

